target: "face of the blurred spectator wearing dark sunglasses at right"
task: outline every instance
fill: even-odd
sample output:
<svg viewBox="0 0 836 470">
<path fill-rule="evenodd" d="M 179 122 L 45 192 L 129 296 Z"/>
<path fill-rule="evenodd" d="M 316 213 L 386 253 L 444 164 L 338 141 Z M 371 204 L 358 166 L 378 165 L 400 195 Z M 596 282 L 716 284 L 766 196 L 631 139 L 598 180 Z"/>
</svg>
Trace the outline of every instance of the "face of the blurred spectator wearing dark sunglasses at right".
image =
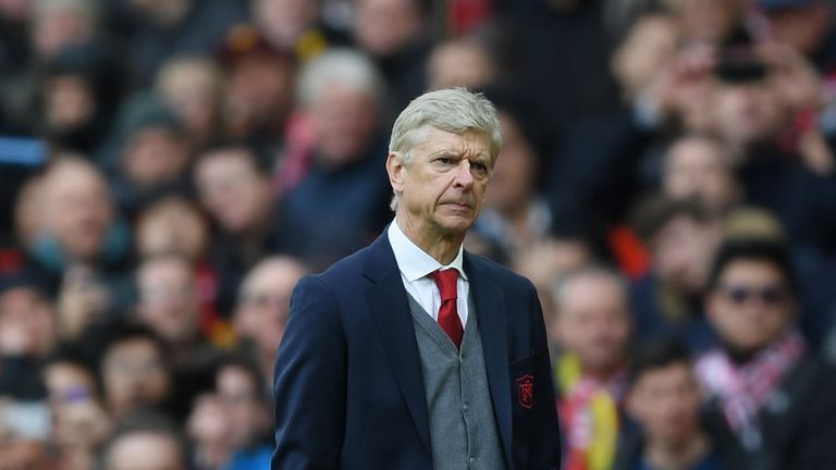
<svg viewBox="0 0 836 470">
<path fill-rule="evenodd" d="M 708 299 L 714 329 L 728 346 L 745 352 L 760 350 L 784 333 L 794 308 L 784 275 L 761 260 L 727 264 Z"/>
</svg>

